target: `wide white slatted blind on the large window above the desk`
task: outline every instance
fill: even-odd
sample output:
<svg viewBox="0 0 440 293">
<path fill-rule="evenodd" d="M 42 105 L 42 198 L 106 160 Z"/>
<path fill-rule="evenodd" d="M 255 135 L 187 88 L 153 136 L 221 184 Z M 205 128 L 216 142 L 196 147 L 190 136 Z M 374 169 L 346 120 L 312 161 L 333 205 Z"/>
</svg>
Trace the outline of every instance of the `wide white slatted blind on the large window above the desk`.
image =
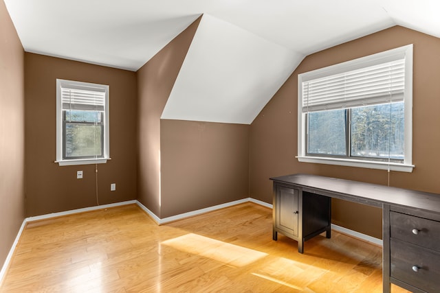
<svg viewBox="0 0 440 293">
<path fill-rule="evenodd" d="M 302 82 L 303 113 L 404 101 L 405 58 Z"/>
</svg>

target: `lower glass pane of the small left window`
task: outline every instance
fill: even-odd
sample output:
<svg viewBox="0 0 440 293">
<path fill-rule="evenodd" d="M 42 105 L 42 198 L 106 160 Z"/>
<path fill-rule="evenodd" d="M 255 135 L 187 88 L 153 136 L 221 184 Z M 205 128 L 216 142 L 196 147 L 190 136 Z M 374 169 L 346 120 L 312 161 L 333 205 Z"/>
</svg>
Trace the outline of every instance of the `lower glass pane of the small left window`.
<svg viewBox="0 0 440 293">
<path fill-rule="evenodd" d="M 102 157 L 102 126 L 93 124 L 65 125 L 65 158 Z"/>
</svg>

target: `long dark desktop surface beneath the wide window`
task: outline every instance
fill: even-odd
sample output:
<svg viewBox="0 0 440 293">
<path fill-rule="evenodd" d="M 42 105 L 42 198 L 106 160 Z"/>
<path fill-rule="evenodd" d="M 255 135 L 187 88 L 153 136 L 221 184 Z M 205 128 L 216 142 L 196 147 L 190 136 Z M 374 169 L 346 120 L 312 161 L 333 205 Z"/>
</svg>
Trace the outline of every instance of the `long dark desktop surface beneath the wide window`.
<svg viewBox="0 0 440 293">
<path fill-rule="evenodd" d="M 324 196 L 376 207 L 391 204 L 440 213 L 440 194 L 311 174 L 292 174 L 270 179 L 274 182 L 302 187 L 304 191 L 322 193 Z"/>
</svg>

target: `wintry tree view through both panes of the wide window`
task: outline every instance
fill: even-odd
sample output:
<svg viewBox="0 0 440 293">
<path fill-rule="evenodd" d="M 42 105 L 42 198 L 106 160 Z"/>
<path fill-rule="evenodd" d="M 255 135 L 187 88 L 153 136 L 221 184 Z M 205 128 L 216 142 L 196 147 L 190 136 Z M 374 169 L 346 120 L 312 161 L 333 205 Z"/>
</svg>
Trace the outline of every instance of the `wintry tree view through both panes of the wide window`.
<svg viewBox="0 0 440 293">
<path fill-rule="evenodd" d="M 404 102 L 308 113 L 307 153 L 404 160 Z"/>
</svg>

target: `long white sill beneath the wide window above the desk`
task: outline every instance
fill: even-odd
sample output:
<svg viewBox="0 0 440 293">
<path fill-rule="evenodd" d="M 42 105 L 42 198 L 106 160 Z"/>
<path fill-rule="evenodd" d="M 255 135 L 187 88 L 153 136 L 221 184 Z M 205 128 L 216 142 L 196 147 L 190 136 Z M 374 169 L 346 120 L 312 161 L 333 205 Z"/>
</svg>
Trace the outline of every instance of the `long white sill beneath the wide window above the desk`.
<svg viewBox="0 0 440 293">
<path fill-rule="evenodd" d="M 318 164 L 328 164 L 328 165 L 340 165 L 349 167 L 361 167 L 369 169 L 381 169 L 398 172 L 408 172 L 411 173 L 415 165 L 405 164 L 405 163 L 395 163 L 395 162 L 377 162 L 377 161 L 363 161 L 355 159 L 339 159 L 339 158 L 325 158 L 320 156 L 296 156 L 299 162 L 303 163 L 318 163 Z"/>
</svg>

